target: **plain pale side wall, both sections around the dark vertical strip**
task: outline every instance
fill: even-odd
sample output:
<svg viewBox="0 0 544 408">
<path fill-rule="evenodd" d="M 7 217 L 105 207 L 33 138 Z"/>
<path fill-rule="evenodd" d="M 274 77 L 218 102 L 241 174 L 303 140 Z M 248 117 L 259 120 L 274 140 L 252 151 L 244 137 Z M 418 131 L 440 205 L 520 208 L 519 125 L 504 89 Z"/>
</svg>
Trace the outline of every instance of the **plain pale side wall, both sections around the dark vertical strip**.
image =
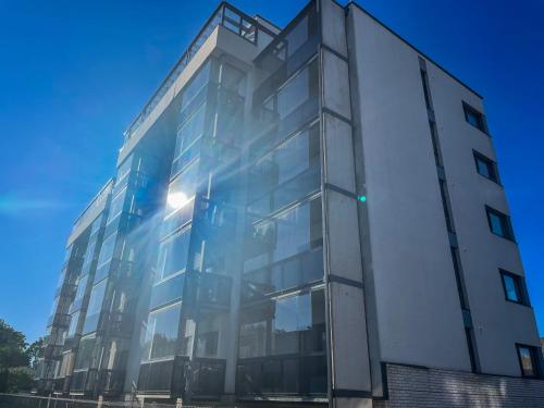
<svg viewBox="0 0 544 408">
<path fill-rule="evenodd" d="M 348 21 L 381 358 L 470 370 L 420 53 L 356 5 Z M 505 300 L 498 273 L 523 270 L 517 244 L 487 225 L 485 205 L 504 213 L 508 206 L 503 187 L 475 170 L 473 149 L 496 161 L 491 137 L 463 115 L 462 101 L 484 112 L 482 100 L 425 61 L 481 370 L 518 376 L 515 344 L 540 342 L 532 309 Z"/>
</svg>

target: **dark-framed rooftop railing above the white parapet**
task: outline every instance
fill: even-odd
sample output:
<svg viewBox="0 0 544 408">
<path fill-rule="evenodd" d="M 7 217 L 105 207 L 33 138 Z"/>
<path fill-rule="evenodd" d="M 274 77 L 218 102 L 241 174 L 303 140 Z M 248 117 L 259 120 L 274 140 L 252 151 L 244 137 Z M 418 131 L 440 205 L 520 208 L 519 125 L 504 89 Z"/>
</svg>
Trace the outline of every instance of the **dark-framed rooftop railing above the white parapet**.
<svg viewBox="0 0 544 408">
<path fill-rule="evenodd" d="M 126 129 L 124 134 L 125 143 L 131 139 L 136 129 L 141 125 L 141 123 L 146 121 L 146 119 L 153 111 L 162 97 L 170 90 L 172 85 L 174 85 L 182 72 L 193 60 L 193 57 L 195 57 L 195 54 L 202 47 L 202 45 L 206 42 L 208 37 L 218 25 L 222 25 L 226 29 L 237 34 L 242 38 L 245 38 L 252 44 L 257 44 L 258 41 L 259 29 L 265 30 L 270 36 L 274 36 L 272 32 L 259 25 L 256 20 L 233 8 L 232 5 L 222 2 L 218 7 L 218 9 L 215 9 L 215 12 L 206 22 L 203 27 L 200 29 L 187 50 L 183 53 L 182 58 L 177 61 L 164 82 L 159 86 L 159 89 L 157 89 L 151 99 L 146 103 L 133 124 L 128 127 L 128 129 Z"/>
</svg>

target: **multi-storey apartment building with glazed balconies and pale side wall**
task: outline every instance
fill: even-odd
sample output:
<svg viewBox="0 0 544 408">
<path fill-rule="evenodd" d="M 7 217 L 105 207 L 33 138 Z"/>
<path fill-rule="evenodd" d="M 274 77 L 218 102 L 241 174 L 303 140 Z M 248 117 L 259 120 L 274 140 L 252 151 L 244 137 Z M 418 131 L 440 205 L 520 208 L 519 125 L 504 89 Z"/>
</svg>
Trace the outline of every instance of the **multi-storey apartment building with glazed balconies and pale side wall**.
<svg viewBox="0 0 544 408">
<path fill-rule="evenodd" d="M 72 231 L 39 388 L 544 406 L 482 97 L 356 3 L 222 2 Z"/>
</svg>

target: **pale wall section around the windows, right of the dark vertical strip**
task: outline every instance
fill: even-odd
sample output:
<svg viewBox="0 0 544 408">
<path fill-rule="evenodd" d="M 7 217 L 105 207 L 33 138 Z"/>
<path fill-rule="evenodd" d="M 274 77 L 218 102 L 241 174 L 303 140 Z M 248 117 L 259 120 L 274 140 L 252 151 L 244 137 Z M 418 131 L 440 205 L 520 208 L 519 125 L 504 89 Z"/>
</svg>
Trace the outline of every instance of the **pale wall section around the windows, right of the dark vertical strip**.
<svg viewBox="0 0 544 408">
<path fill-rule="evenodd" d="M 533 310 L 508 302 L 498 269 L 523 275 L 518 245 L 490 232 L 489 205 L 509 213 L 503 186 L 478 174 L 473 150 L 496 161 L 492 138 L 465 121 L 462 101 L 482 100 L 428 62 L 429 84 L 448 181 L 482 372 L 520 375 L 516 343 L 539 347 Z"/>
</svg>

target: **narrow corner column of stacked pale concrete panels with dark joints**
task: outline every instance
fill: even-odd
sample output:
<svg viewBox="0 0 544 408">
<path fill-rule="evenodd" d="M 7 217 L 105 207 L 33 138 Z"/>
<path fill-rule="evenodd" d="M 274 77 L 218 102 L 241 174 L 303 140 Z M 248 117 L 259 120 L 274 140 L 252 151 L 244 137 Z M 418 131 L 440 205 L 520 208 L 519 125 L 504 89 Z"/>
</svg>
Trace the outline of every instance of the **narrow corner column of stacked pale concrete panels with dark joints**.
<svg viewBox="0 0 544 408">
<path fill-rule="evenodd" d="M 329 398 L 372 407 L 344 9 L 320 1 Z"/>
</svg>

